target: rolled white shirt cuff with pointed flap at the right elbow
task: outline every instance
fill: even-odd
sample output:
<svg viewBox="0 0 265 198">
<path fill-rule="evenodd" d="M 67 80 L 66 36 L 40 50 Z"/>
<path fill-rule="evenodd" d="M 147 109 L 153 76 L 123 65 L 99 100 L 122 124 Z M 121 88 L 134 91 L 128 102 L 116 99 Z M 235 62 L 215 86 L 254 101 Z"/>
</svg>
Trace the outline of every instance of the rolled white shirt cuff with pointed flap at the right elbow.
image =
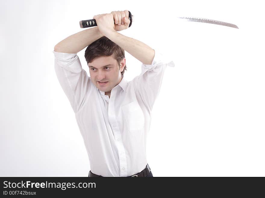
<svg viewBox="0 0 265 198">
<path fill-rule="evenodd" d="M 167 65 L 170 67 L 175 67 L 175 64 L 173 60 L 168 57 L 167 55 L 164 55 L 161 51 L 155 50 L 154 52 L 154 59 L 152 61 L 152 64 L 143 64 L 142 63 L 142 69 L 151 71 L 153 70 L 157 65 Z"/>
</svg>

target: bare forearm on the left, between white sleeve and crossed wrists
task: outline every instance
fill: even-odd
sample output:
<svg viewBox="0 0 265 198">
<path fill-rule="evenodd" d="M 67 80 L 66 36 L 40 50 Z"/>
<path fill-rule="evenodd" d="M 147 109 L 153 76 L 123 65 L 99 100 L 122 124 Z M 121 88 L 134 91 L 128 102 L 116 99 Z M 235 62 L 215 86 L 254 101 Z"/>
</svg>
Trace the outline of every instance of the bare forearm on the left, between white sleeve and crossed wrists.
<svg viewBox="0 0 265 198">
<path fill-rule="evenodd" d="M 74 54 L 80 52 L 86 46 L 89 46 L 92 42 L 102 36 L 103 35 L 98 30 L 98 27 L 89 28 L 68 36 L 66 39 L 55 45 L 54 51 Z"/>
</svg>

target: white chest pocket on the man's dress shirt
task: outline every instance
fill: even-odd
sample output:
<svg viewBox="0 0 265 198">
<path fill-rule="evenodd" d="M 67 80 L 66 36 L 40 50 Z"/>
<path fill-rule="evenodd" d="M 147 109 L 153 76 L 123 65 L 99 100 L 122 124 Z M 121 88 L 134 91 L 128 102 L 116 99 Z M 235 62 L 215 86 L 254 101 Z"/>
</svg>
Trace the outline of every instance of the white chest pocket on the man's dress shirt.
<svg viewBox="0 0 265 198">
<path fill-rule="evenodd" d="M 144 127 L 145 117 L 138 102 L 130 102 L 122 106 L 129 131 L 141 130 Z"/>
</svg>

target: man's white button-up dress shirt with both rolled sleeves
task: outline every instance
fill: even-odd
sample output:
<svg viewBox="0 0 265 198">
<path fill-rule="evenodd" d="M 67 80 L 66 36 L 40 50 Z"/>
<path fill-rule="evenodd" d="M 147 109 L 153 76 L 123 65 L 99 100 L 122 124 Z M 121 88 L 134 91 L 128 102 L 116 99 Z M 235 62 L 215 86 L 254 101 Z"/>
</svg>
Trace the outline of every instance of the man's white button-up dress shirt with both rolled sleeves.
<svg viewBox="0 0 265 198">
<path fill-rule="evenodd" d="M 151 65 L 111 90 L 98 90 L 82 68 L 77 54 L 53 51 L 55 72 L 75 113 L 89 157 L 90 169 L 103 177 L 127 177 L 147 165 L 146 138 L 151 111 L 171 59 L 155 50 Z M 127 71 L 128 72 L 128 71 Z"/>
</svg>

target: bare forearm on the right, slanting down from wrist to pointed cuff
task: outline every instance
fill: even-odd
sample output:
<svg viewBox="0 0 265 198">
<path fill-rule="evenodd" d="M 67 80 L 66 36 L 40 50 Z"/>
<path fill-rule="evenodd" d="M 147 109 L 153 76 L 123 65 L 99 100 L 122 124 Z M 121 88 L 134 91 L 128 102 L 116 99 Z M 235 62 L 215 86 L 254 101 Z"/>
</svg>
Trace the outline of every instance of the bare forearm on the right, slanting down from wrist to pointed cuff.
<svg viewBox="0 0 265 198">
<path fill-rule="evenodd" d="M 116 31 L 110 31 L 106 35 L 108 39 L 115 42 L 122 49 L 129 52 L 133 57 L 141 61 L 143 64 L 152 64 L 154 59 L 154 49 L 146 45 L 145 43 L 124 36 Z"/>
</svg>

